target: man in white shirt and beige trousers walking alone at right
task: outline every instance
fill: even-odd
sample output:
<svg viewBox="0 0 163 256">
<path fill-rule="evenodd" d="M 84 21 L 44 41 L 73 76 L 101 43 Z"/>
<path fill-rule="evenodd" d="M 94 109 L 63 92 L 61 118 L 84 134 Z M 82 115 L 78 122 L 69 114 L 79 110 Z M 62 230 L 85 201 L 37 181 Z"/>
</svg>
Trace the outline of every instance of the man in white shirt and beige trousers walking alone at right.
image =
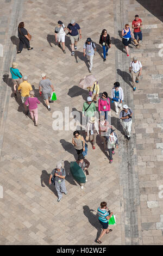
<svg viewBox="0 0 163 256">
<path fill-rule="evenodd" d="M 141 71 L 142 71 L 141 62 L 137 59 L 137 57 L 134 57 L 133 61 L 130 62 L 130 67 L 129 67 L 129 72 L 132 75 L 134 91 L 136 90 L 136 83 L 139 83 L 138 77 L 141 76 Z"/>
</svg>

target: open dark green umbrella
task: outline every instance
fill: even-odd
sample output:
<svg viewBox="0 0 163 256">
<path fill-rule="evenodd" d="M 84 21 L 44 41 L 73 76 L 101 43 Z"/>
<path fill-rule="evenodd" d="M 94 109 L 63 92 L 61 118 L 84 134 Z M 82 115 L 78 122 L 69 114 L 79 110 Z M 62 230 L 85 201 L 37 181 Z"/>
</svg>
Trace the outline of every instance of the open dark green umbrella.
<svg viewBox="0 0 163 256">
<path fill-rule="evenodd" d="M 73 178 L 79 183 L 85 183 L 86 176 L 77 162 L 71 162 L 70 170 Z"/>
</svg>

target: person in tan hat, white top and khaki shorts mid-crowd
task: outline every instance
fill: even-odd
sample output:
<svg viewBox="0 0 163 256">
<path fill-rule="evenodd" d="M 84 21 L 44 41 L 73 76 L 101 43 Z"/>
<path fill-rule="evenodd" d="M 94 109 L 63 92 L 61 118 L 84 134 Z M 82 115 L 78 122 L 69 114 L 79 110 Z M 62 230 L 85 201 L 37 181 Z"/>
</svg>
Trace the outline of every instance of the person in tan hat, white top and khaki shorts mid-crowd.
<svg viewBox="0 0 163 256">
<path fill-rule="evenodd" d="M 98 123 L 95 117 L 91 117 L 86 126 L 86 141 L 91 141 L 92 148 L 95 149 L 96 136 L 99 134 Z"/>
</svg>

